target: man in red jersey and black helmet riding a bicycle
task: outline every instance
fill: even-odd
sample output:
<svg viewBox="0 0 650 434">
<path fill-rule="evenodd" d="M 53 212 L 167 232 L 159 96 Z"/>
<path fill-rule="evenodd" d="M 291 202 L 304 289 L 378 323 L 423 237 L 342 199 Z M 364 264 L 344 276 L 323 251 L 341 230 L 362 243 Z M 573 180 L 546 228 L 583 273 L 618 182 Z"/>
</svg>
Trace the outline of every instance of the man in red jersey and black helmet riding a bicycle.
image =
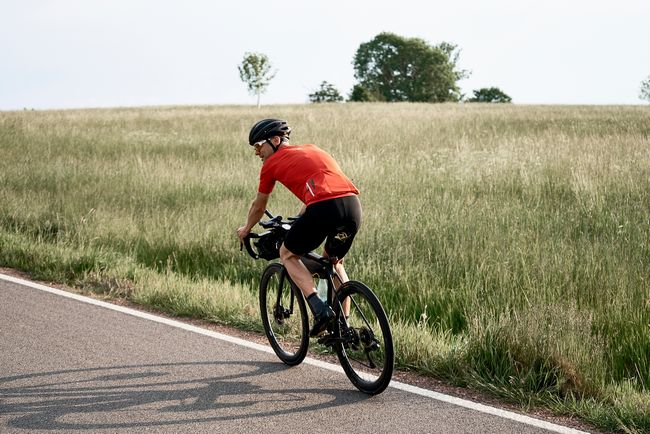
<svg viewBox="0 0 650 434">
<path fill-rule="evenodd" d="M 262 169 L 257 196 L 237 235 L 243 240 L 260 221 L 276 181 L 303 202 L 298 219 L 280 247 L 280 259 L 307 299 L 314 315 L 309 334 L 317 336 L 335 315 L 317 296 L 314 279 L 300 256 L 325 241 L 323 255 L 332 260 L 341 277 L 337 284 L 346 282 L 343 257 L 361 224 L 361 203 L 359 190 L 329 154 L 315 145 L 290 145 L 290 134 L 291 127 L 281 119 L 263 119 L 251 128 L 248 143 L 262 160 Z"/>
</svg>

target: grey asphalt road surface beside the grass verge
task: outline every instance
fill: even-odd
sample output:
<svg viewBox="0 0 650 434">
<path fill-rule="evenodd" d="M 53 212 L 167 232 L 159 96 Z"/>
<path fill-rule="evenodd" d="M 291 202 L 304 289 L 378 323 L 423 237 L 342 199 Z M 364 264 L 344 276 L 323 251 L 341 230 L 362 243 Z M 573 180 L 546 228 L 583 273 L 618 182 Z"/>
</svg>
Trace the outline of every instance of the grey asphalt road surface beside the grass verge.
<svg viewBox="0 0 650 434">
<path fill-rule="evenodd" d="M 2 277 L 2 276 L 0 276 Z M 577 432 L 533 426 L 0 279 L 0 432 Z"/>
</svg>

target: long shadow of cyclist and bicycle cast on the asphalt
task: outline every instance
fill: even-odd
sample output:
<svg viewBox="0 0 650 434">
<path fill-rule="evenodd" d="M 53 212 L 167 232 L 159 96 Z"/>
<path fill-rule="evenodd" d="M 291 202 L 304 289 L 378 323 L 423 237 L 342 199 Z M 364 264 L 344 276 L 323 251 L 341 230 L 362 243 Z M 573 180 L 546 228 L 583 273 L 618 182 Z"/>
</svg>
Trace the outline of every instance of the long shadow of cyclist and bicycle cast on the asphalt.
<svg viewBox="0 0 650 434">
<path fill-rule="evenodd" d="M 205 369 L 233 367 L 245 372 L 205 375 Z M 210 361 L 0 377 L 0 418 L 19 429 L 110 430 L 303 413 L 368 398 L 352 389 L 283 388 L 283 382 L 264 386 L 259 381 L 286 369 L 281 363 Z"/>
</svg>

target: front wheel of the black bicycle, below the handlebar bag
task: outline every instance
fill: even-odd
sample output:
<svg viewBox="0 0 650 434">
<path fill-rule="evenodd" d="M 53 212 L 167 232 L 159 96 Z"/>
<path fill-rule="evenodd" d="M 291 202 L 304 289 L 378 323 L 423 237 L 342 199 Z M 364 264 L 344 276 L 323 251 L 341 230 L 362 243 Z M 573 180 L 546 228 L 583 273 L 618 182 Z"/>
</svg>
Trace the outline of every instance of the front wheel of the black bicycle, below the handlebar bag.
<svg viewBox="0 0 650 434">
<path fill-rule="evenodd" d="M 309 318 L 305 299 L 280 264 L 270 264 L 260 282 L 264 332 L 275 354 L 290 366 L 301 363 L 309 348 Z"/>
</svg>

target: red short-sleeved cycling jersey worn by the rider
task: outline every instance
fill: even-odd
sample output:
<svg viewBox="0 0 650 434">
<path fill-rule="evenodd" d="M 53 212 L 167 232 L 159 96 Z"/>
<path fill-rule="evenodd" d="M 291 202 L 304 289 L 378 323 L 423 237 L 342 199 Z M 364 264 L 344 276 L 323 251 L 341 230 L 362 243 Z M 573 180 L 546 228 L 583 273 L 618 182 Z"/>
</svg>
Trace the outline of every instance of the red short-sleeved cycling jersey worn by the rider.
<svg viewBox="0 0 650 434">
<path fill-rule="evenodd" d="M 258 191 L 271 194 L 276 181 L 305 205 L 359 194 L 336 161 L 316 145 L 284 145 L 267 158 Z"/>
</svg>

